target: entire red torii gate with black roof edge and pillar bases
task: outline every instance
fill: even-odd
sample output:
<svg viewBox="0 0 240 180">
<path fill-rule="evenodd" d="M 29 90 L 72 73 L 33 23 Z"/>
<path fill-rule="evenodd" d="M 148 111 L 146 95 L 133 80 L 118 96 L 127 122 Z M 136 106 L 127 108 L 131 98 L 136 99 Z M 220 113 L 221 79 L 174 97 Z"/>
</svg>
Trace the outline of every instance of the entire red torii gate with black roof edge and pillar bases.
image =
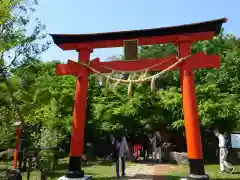
<svg viewBox="0 0 240 180">
<path fill-rule="evenodd" d="M 118 71 L 136 71 L 164 61 L 161 65 L 151 69 L 151 71 L 160 71 L 177 61 L 175 56 L 164 59 L 147 59 L 145 61 L 100 62 L 98 58 L 90 61 L 90 54 L 93 49 L 122 47 L 125 40 L 137 40 L 139 45 L 174 43 L 178 47 L 179 58 L 187 57 L 191 55 L 192 43 L 212 39 L 220 32 L 222 24 L 226 21 L 226 18 L 222 18 L 175 27 L 98 34 L 51 34 L 54 43 L 63 50 L 76 50 L 79 52 L 79 63 L 69 60 L 67 64 L 57 64 L 56 66 L 58 75 L 74 75 L 77 77 L 67 177 L 84 177 L 84 172 L 81 169 L 81 156 L 84 145 L 88 75 L 94 72 L 83 64 L 101 73 L 109 73 L 109 69 L 104 67 Z M 184 125 L 190 168 L 188 179 L 209 179 L 204 170 L 193 70 L 218 68 L 219 66 L 220 57 L 218 55 L 198 53 L 189 56 L 183 63 L 174 68 L 180 70 L 182 84 Z"/>
</svg>

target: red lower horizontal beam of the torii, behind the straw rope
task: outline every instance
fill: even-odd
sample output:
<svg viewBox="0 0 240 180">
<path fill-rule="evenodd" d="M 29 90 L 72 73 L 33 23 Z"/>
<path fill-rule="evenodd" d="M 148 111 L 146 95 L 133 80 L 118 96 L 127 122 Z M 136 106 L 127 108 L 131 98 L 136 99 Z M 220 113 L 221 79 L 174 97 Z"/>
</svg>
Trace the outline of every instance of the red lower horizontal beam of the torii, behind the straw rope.
<svg viewBox="0 0 240 180">
<path fill-rule="evenodd" d="M 172 64 L 176 63 L 178 59 L 175 55 L 170 55 L 167 58 L 153 58 L 153 59 L 140 59 L 133 61 L 112 61 L 112 62 L 100 62 L 99 58 L 93 59 L 89 67 L 100 73 L 111 73 L 113 71 L 122 72 L 134 72 L 134 71 L 161 71 Z M 218 68 L 220 67 L 220 57 L 218 55 L 205 55 L 203 52 L 186 58 L 185 62 L 190 69 L 201 69 L 201 68 Z M 154 67 L 153 67 L 154 66 Z M 153 67 L 153 68 L 150 68 Z M 176 70 L 180 67 L 180 64 L 172 68 Z M 56 74 L 57 75 L 76 75 L 81 76 L 83 69 L 86 69 L 83 64 L 68 60 L 67 64 L 57 64 Z M 89 73 L 93 72 L 89 68 Z"/>
</svg>

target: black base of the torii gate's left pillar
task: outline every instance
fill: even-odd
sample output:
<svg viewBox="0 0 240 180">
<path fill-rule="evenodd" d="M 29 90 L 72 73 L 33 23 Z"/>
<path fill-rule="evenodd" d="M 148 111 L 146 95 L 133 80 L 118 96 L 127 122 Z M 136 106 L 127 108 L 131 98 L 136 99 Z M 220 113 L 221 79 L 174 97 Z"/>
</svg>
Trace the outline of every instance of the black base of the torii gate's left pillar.
<svg viewBox="0 0 240 180">
<path fill-rule="evenodd" d="M 69 167 L 68 172 L 66 173 L 67 178 L 83 178 L 84 171 L 82 170 L 82 158 L 81 157 L 69 157 Z"/>
</svg>

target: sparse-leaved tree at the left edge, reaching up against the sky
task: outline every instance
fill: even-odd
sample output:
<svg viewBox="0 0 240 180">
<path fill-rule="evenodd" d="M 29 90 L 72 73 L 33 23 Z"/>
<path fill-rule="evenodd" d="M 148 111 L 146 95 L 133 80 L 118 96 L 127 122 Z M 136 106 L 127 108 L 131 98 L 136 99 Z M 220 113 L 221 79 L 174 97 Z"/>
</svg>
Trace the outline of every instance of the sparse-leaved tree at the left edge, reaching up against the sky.
<svg viewBox="0 0 240 180">
<path fill-rule="evenodd" d="M 41 52 L 47 50 L 50 44 L 44 40 L 45 26 L 38 19 L 30 21 L 29 18 L 37 4 L 36 0 L 0 1 L 0 83 L 1 90 L 4 92 L 1 96 L 4 104 L 1 112 L 4 113 L 0 116 L 3 124 L 5 122 L 13 124 L 17 120 L 24 121 L 24 115 L 19 109 L 20 102 L 17 101 L 17 94 L 15 94 L 15 88 L 18 87 L 20 79 L 12 76 L 12 68 L 35 60 Z M 29 28 L 30 25 L 33 29 Z M 31 30 L 32 32 L 29 32 Z M 11 121 L 8 118 L 11 118 Z M 10 127 L 11 132 L 14 132 L 13 127 Z"/>
</svg>

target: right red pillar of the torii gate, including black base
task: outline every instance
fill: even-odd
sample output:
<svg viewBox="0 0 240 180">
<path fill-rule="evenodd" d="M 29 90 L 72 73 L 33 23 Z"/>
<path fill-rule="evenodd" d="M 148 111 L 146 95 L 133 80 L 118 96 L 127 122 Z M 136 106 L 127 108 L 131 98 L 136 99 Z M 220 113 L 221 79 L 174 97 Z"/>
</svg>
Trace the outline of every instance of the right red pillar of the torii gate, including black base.
<svg viewBox="0 0 240 180">
<path fill-rule="evenodd" d="M 180 41 L 177 43 L 180 57 L 191 55 L 191 42 Z M 189 161 L 188 180 L 208 180 L 205 174 L 204 159 L 202 153 L 202 140 L 200 123 L 198 119 L 197 100 L 195 94 L 193 62 L 184 61 L 180 67 L 180 79 L 182 85 L 182 101 L 184 111 L 184 126 L 187 141 Z"/>
</svg>

